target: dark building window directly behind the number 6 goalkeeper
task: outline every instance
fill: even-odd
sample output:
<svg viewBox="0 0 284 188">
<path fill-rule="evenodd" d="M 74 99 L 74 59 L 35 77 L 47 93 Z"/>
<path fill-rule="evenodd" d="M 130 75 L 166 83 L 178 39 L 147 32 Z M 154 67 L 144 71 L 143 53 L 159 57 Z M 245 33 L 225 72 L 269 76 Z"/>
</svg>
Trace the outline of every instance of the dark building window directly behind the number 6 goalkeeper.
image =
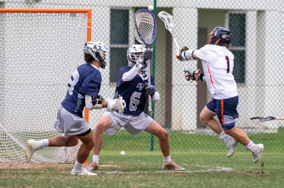
<svg viewBox="0 0 284 188">
<path fill-rule="evenodd" d="M 120 67 L 128 65 L 129 10 L 110 10 L 110 82 L 116 82 Z"/>
</svg>

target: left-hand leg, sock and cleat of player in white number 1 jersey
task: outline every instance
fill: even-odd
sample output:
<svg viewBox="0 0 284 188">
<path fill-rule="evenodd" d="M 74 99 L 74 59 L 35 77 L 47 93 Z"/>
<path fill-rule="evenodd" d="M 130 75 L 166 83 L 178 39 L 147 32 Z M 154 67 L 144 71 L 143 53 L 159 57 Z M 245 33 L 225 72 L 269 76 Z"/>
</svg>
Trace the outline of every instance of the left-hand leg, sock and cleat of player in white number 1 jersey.
<svg viewBox="0 0 284 188">
<path fill-rule="evenodd" d="M 211 128 L 215 133 L 217 133 L 219 135 L 219 139 L 222 142 L 225 142 L 228 150 L 227 157 L 231 157 L 236 151 L 238 142 L 234 139 L 233 136 L 228 136 L 226 132 L 223 131 L 220 122 L 214 118 L 215 115 L 216 114 L 210 112 L 207 107 L 204 107 L 199 117 L 202 123 Z"/>
</svg>

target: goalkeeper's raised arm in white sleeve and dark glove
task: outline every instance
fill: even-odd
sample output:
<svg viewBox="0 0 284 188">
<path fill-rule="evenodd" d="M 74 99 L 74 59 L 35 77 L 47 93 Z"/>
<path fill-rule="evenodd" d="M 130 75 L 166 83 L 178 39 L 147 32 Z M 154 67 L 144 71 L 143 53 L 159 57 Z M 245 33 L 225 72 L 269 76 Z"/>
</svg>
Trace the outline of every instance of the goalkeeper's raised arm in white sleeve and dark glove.
<svg viewBox="0 0 284 188">
<path fill-rule="evenodd" d="M 153 49 L 145 50 L 136 61 L 136 66 L 134 66 L 132 69 L 122 75 L 122 81 L 132 80 L 138 74 L 139 70 L 141 70 L 143 64 L 147 63 L 148 59 L 152 59 L 152 54 Z"/>
</svg>

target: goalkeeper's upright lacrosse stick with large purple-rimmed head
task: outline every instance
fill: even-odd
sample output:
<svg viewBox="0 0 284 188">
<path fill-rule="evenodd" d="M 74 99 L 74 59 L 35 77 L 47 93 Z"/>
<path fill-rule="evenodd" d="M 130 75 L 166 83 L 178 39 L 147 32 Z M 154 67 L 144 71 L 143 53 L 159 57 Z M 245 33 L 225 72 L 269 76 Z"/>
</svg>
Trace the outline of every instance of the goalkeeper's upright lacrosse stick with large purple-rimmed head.
<svg viewBox="0 0 284 188">
<path fill-rule="evenodd" d="M 156 20 L 154 14 L 148 9 L 140 9 L 135 13 L 135 38 L 141 44 L 145 44 L 149 49 L 156 37 Z M 151 86 L 150 61 L 147 60 L 148 66 L 148 84 Z M 152 99 L 149 97 L 149 113 L 152 113 Z"/>
</svg>

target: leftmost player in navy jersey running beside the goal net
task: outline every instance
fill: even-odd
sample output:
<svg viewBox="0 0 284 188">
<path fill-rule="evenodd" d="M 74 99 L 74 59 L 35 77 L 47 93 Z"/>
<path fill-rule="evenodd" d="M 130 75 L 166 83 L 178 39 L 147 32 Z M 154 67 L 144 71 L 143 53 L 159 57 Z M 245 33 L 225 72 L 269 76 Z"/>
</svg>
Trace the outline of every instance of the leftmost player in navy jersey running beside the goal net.
<svg viewBox="0 0 284 188">
<path fill-rule="evenodd" d="M 99 41 L 85 42 L 83 65 L 72 73 L 68 81 L 68 89 L 65 99 L 59 105 L 57 120 L 54 128 L 64 133 L 64 136 L 58 135 L 39 141 L 28 140 L 25 151 L 27 163 L 30 162 L 34 152 L 43 147 L 72 147 L 81 145 L 75 166 L 71 171 L 72 175 L 96 175 L 83 168 L 92 147 L 94 146 L 91 128 L 83 118 L 83 109 L 86 105 L 88 110 L 101 109 L 106 107 L 110 112 L 119 110 L 123 112 L 124 101 L 122 98 L 104 100 L 100 95 L 101 73 L 99 68 L 105 68 L 108 50 L 106 46 Z"/>
</svg>

